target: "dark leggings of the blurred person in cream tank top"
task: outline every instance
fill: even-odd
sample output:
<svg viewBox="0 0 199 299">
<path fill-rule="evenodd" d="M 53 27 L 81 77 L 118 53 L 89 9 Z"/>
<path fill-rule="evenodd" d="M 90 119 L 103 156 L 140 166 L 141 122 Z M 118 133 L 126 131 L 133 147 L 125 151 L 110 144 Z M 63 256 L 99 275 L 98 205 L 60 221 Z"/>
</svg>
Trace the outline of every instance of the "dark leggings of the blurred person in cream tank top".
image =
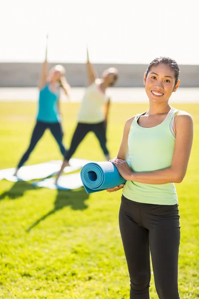
<svg viewBox="0 0 199 299">
<path fill-rule="evenodd" d="M 106 148 L 105 122 L 101 122 L 98 124 L 78 123 L 71 141 L 70 149 L 67 151 L 67 154 L 65 156 L 66 160 L 69 160 L 72 157 L 80 143 L 89 132 L 95 133 L 100 142 L 100 147 L 103 150 L 103 153 L 108 154 L 108 149 Z"/>
</svg>

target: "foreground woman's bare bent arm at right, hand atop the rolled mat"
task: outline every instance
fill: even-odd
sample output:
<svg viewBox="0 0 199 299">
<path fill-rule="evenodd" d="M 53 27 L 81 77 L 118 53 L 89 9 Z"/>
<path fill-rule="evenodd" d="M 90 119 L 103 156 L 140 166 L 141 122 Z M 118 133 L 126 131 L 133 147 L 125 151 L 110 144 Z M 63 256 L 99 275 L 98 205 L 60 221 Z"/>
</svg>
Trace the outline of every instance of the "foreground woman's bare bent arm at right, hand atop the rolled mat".
<svg viewBox="0 0 199 299">
<path fill-rule="evenodd" d="M 171 166 L 165 169 L 132 172 L 123 160 L 114 159 L 112 163 L 126 179 L 146 184 L 180 183 L 185 177 L 193 143 L 193 119 L 186 112 L 179 112 L 175 119 L 176 142 Z"/>
</svg>

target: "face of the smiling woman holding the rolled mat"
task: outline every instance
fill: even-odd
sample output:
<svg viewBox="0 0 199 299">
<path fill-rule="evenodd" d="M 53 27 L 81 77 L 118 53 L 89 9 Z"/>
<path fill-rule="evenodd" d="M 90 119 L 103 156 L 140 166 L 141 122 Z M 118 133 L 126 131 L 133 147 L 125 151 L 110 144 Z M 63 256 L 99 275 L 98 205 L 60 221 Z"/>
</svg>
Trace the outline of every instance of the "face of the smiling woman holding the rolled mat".
<svg viewBox="0 0 199 299">
<path fill-rule="evenodd" d="M 180 80 L 175 84 L 175 71 L 166 64 L 152 66 L 147 77 L 144 74 L 144 85 L 150 102 L 168 102 L 172 92 L 176 92 Z"/>
</svg>

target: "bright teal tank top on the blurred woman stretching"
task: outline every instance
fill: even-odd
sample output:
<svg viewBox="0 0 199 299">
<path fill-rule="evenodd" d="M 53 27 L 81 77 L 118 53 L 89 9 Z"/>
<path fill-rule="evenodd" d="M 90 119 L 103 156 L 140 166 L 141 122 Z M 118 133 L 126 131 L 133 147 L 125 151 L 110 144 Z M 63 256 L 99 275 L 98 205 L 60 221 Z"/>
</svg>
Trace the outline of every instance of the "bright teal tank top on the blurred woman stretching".
<svg viewBox="0 0 199 299">
<path fill-rule="evenodd" d="M 60 114 L 57 106 L 58 99 L 59 92 L 53 93 L 49 89 L 49 83 L 47 83 L 39 92 L 37 121 L 44 123 L 60 122 Z"/>
</svg>

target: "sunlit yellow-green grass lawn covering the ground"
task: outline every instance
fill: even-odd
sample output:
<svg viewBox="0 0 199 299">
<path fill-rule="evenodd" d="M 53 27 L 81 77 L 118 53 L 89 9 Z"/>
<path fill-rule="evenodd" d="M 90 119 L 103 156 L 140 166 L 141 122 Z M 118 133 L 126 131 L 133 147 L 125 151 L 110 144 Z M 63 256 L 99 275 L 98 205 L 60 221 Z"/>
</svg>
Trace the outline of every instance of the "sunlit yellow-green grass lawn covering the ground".
<svg viewBox="0 0 199 299">
<path fill-rule="evenodd" d="M 177 184 L 181 214 L 179 289 L 182 299 L 199 298 L 199 105 L 175 105 L 193 115 L 195 140 L 189 169 Z M 69 145 L 78 104 L 62 104 L 64 142 Z M 108 148 L 115 156 L 130 116 L 144 104 L 114 104 Z M 0 168 L 13 167 L 28 145 L 35 103 L 0 103 Z M 103 159 L 89 134 L 76 157 Z M 60 159 L 46 132 L 27 164 Z M 118 228 L 121 191 L 86 194 L 28 182 L 0 181 L 0 298 L 128 299 L 129 278 Z M 152 276 L 151 298 L 157 299 Z"/>
</svg>

